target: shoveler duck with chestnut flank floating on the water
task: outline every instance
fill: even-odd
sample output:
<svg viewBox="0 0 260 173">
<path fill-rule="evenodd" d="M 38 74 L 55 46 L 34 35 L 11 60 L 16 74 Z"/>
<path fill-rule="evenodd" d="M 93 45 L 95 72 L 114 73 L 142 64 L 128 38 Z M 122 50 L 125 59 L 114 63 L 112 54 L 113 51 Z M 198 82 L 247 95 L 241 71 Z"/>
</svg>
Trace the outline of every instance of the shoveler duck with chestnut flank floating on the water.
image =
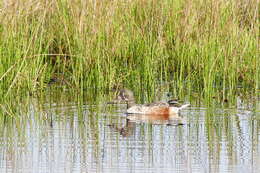
<svg viewBox="0 0 260 173">
<path fill-rule="evenodd" d="M 128 114 L 176 115 L 180 110 L 190 106 L 189 104 L 180 105 L 175 100 L 170 100 L 168 102 L 155 102 L 150 104 L 136 104 L 134 94 L 129 89 L 121 89 L 117 99 L 120 102 L 126 102 L 126 113 Z"/>
</svg>

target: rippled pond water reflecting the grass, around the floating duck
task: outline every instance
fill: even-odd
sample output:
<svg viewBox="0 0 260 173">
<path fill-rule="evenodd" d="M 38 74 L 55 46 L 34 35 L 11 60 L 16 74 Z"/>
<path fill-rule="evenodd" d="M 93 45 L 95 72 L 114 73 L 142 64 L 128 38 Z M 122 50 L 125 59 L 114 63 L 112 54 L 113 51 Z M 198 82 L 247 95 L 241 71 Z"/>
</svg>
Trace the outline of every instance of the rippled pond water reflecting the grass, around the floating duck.
<svg viewBox="0 0 260 173">
<path fill-rule="evenodd" d="M 1 119 L 0 172 L 260 172 L 259 97 L 191 101 L 173 123 L 128 121 L 106 99 L 46 98 Z"/>
</svg>

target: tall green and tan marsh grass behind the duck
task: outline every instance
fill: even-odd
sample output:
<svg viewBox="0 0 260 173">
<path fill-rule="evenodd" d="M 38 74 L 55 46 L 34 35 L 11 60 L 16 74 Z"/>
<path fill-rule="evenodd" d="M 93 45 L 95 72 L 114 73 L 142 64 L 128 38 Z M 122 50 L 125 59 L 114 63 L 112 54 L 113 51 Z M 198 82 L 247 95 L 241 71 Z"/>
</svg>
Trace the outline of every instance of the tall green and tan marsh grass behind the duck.
<svg viewBox="0 0 260 173">
<path fill-rule="evenodd" d="M 4 0 L 0 8 L 2 96 L 42 89 L 54 75 L 79 91 L 259 89 L 257 0 Z"/>
</svg>

